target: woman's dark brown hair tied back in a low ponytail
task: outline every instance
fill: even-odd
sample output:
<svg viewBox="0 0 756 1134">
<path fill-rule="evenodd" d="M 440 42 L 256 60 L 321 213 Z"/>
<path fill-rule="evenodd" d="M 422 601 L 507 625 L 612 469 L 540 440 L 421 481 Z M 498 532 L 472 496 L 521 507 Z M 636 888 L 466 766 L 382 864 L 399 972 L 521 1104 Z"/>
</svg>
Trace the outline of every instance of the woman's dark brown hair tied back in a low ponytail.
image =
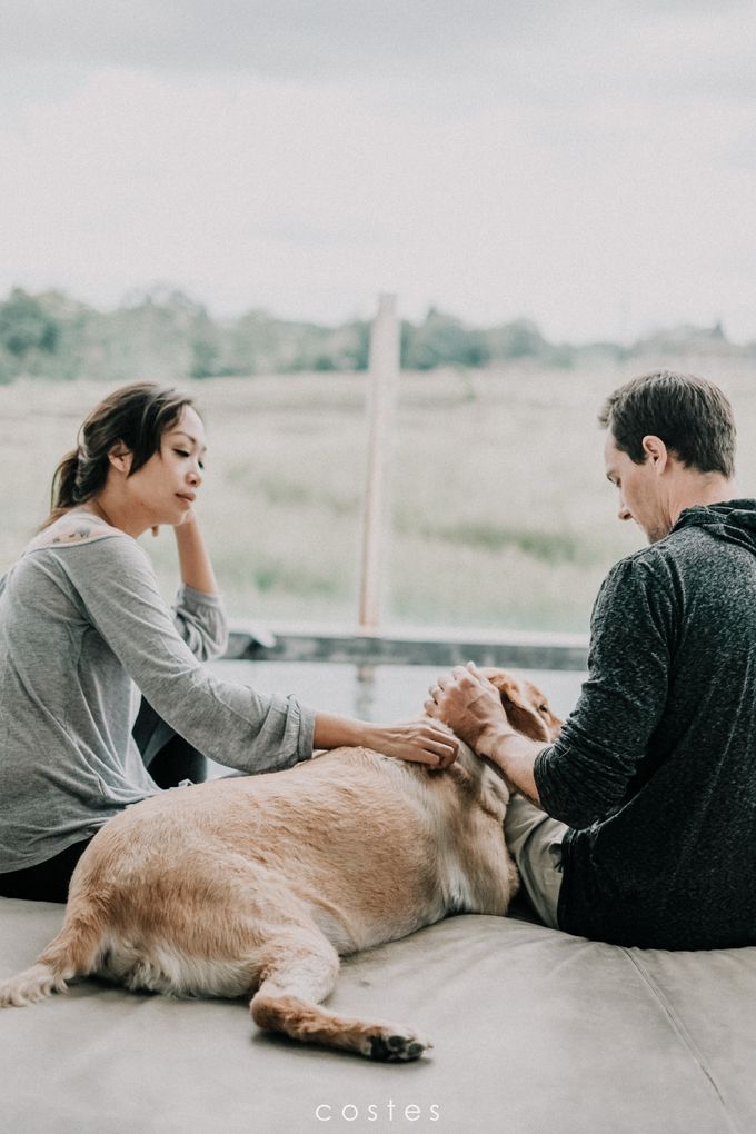
<svg viewBox="0 0 756 1134">
<path fill-rule="evenodd" d="M 131 454 L 131 476 L 160 449 L 160 439 L 176 424 L 192 398 L 170 386 L 135 382 L 113 390 L 85 418 L 76 449 L 67 452 L 52 477 L 48 527 L 69 508 L 84 503 L 104 488 L 109 452 L 124 445 Z"/>
</svg>

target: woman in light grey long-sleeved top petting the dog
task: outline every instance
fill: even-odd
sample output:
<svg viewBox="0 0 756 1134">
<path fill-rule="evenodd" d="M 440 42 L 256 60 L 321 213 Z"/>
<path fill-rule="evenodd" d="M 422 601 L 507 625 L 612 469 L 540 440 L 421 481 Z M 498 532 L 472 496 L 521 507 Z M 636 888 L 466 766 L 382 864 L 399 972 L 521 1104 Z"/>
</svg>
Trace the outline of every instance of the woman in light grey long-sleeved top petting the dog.
<svg viewBox="0 0 756 1134">
<path fill-rule="evenodd" d="M 435 767 L 455 759 L 435 723 L 315 713 L 203 667 L 223 652 L 226 621 L 194 515 L 205 442 L 188 397 L 125 387 L 79 437 L 56 471 L 51 515 L 0 581 L 0 895 L 65 902 L 97 829 L 160 790 L 131 735 L 138 691 L 143 752 L 164 721 L 189 753 L 243 772 L 355 744 Z M 136 542 L 161 524 L 178 547 L 173 616 Z"/>
</svg>

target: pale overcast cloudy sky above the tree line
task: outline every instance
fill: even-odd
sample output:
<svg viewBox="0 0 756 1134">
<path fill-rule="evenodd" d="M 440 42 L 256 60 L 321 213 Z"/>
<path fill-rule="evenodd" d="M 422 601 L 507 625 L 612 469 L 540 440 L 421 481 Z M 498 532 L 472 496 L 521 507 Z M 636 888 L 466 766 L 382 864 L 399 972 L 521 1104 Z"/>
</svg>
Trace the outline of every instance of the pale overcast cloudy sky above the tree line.
<svg viewBox="0 0 756 1134">
<path fill-rule="evenodd" d="M 2 0 L 0 291 L 756 339 L 751 0 Z"/>
</svg>

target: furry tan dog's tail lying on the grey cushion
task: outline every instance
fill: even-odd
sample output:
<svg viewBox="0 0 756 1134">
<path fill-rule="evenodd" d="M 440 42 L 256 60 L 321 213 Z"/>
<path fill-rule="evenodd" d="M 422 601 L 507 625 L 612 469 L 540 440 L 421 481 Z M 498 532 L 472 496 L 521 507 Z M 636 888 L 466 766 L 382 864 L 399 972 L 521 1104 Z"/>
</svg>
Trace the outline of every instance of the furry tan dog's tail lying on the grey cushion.
<svg viewBox="0 0 756 1134">
<path fill-rule="evenodd" d="M 56 938 L 37 957 L 36 964 L 17 976 L 0 981 L 0 1008 L 22 1007 L 65 992 L 66 981 L 84 976 L 96 967 L 105 919 L 100 903 L 79 897 L 69 904 L 66 921 Z"/>
</svg>

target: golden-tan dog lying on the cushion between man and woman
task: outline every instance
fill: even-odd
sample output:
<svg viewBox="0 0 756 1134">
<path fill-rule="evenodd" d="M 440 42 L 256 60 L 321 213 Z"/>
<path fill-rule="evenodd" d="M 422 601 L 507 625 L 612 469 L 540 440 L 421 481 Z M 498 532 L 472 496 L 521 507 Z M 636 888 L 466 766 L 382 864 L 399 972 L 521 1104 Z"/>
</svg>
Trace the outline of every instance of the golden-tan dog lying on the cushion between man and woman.
<svg viewBox="0 0 756 1134">
<path fill-rule="evenodd" d="M 529 682 L 483 670 L 512 726 L 561 726 Z M 167 792 L 109 820 L 71 878 L 63 926 L 0 983 L 0 1007 L 99 975 L 134 990 L 247 997 L 263 1029 L 372 1059 L 416 1059 L 414 1029 L 321 1007 L 339 957 L 448 914 L 506 914 L 509 792 L 460 744 L 444 771 L 339 748 L 283 772 Z M 255 991 L 256 990 L 256 991 Z"/>
</svg>

